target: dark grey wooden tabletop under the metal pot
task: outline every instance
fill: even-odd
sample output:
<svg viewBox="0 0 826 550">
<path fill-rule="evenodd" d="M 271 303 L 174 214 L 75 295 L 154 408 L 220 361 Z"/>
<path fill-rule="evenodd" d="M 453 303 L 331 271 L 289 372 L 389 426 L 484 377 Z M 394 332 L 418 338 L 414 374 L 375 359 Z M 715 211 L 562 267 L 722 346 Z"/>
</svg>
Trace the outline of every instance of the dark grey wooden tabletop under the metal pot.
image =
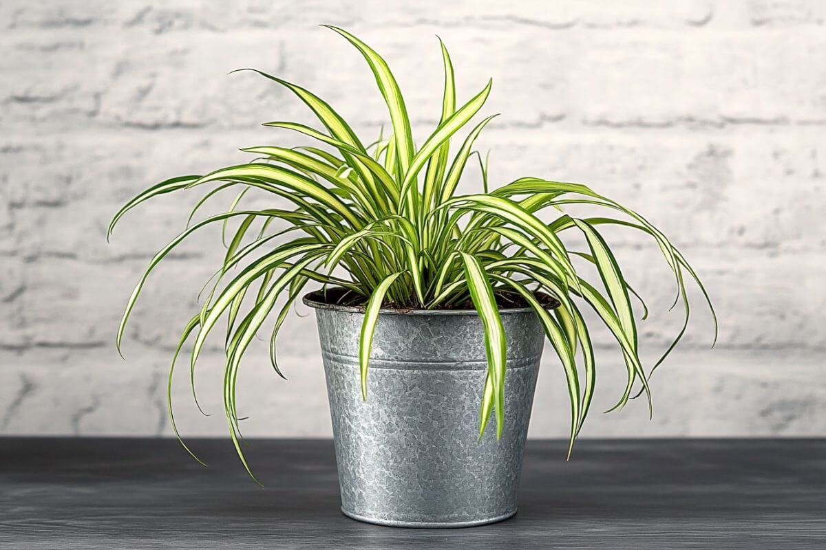
<svg viewBox="0 0 826 550">
<path fill-rule="evenodd" d="M 529 441 L 520 510 L 470 529 L 339 513 L 332 444 L 0 439 L 0 548 L 826 548 L 826 440 Z"/>
</svg>

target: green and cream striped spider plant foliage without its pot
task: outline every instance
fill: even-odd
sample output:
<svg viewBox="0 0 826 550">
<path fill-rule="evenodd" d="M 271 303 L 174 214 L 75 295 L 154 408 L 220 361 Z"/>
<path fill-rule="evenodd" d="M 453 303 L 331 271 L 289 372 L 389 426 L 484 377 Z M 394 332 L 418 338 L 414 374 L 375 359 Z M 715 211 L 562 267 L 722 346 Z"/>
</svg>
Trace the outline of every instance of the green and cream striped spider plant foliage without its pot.
<svg viewBox="0 0 826 550">
<path fill-rule="evenodd" d="M 244 152 L 254 155 L 251 162 L 206 175 L 162 181 L 116 213 L 107 237 L 127 211 L 146 200 L 178 190 L 209 189 L 192 209 L 188 228 L 152 258 L 136 284 L 117 331 L 118 350 L 135 301 L 164 256 L 198 229 L 213 223 L 226 229 L 230 219 L 238 219 L 238 227 L 225 242 L 222 265 L 205 286 L 209 288 L 207 298 L 183 329 L 169 370 L 169 384 L 171 388 L 175 359 L 191 337 L 192 381 L 207 336 L 219 319 L 226 317 L 223 402 L 230 437 L 248 472 L 240 446 L 235 399 L 241 357 L 270 319 L 270 358 L 281 374 L 276 361 L 276 336 L 291 303 L 311 281 L 346 289 L 349 303 L 363 304 L 359 364 L 365 399 L 373 329 L 380 308 L 438 309 L 472 303 L 484 327 L 488 360 L 487 380 L 483 391 L 480 388 L 479 435 L 486 429 L 491 413 L 496 419 L 496 435 L 501 435 L 507 365 L 506 334 L 499 307 L 510 299 L 534 309 L 563 366 L 571 406 L 568 455 L 591 407 L 596 381 L 594 352 L 582 305 L 596 312 L 624 360 L 627 379 L 612 409 L 623 407 L 635 392 L 635 383 L 639 383 L 636 395 L 645 393 L 650 411 L 650 372 L 646 373 L 639 360 L 637 320 L 630 299 L 631 294 L 638 295 L 625 279 L 600 229 L 617 225 L 651 237 L 672 272 L 675 304 L 682 304 L 685 321 L 652 371 L 686 331 L 686 278 L 699 285 L 711 306 L 695 270 L 681 252 L 634 210 L 582 184 L 522 177 L 491 190 L 487 162 L 482 162 L 481 156 L 482 192 L 458 195 L 459 179 L 468 163 L 476 160 L 474 143 L 493 116 L 473 125 L 455 150 L 451 139 L 482 109 L 491 82 L 467 102 L 459 103 L 453 65 L 440 41 L 444 63 L 441 118 L 433 133 L 417 145 L 405 101 L 385 60 L 349 32 L 329 28 L 354 45 L 367 61 L 387 103 L 392 131 L 365 144 L 320 97 L 282 78 L 241 69 L 254 70 L 287 88 L 309 107 L 323 129 L 284 121 L 265 126 L 309 136 L 319 146 L 245 148 Z M 192 223 L 207 199 L 230 187 L 240 189 L 230 209 Z M 248 191 L 281 197 L 295 208 L 243 209 L 240 204 Z M 580 204 L 603 209 L 605 215 L 579 219 L 564 213 L 568 206 Z M 552 209 L 556 219 L 550 223 L 539 219 L 537 214 L 544 209 Z M 273 222 L 286 228 L 275 230 L 277 223 Z M 584 237 L 586 249 L 569 247 L 563 241 L 569 233 L 579 233 L 580 242 Z M 583 278 L 575 261 L 595 267 L 599 281 L 592 283 Z M 339 275 L 334 275 L 336 268 Z M 546 309 L 547 296 L 553 297 L 558 307 Z M 642 307 L 644 319 L 648 312 L 644 303 Z M 714 310 L 711 312 L 714 317 Z M 716 319 L 714 334 L 716 338 Z M 178 435 L 171 390 L 168 397 L 169 416 Z"/>
</svg>

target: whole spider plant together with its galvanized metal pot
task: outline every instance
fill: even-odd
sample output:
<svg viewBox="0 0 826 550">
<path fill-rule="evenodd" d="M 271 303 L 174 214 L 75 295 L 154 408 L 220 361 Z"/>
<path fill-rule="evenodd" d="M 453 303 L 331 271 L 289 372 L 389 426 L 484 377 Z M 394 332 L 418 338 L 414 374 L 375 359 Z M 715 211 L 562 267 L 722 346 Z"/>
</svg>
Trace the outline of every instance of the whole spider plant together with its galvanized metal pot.
<svg viewBox="0 0 826 550">
<path fill-rule="evenodd" d="M 207 299 L 184 327 L 174 358 L 192 338 L 194 369 L 207 336 L 226 317 L 225 416 L 250 476 L 235 403 L 240 360 L 268 321 L 271 360 L 281 374 L 278 330 L 306 284 L 318 283 L 321 288 L 306 294 L 304 303 L 316 308 L 344 513 L 377 524 L 424 527 L 505 519 L 516 510 L 544 336 L 567 383 L 568 455 L 591 406 L 596 366 L 583 305 L 614 336 L 627 369 L 614 408 L 642 393 L 651 408 L 650 373 L 638 358 L 630 299 L 636 293 L 599 228 L 619 225 L 653 238 L 672 271 L 686 322 L 654 368 L 685 331 L 686 279 L 699 285 L 706 301 L 708 294 L 657 228 L 587 186 L 524 177 L 491 189 L 487 162 L 479 157 L 482 190 L 458 195 L 460 176 L 476 161 L 474 141 L 493 117 L 474 125 L 455 150 L 451 138 L 482 108 L 491 82 L 459 104 L 442 45 L 441 120 L 417 147 L 387 63 L 354 35 L 330 28 L 367 60 L 387 102 L 392 132 L 365 145 L 325 101 L 259 72 L 306 103 L 324 129 L 292 122 L 266 126 L 304 134 L 320 147 L 246 148 L 255 155 L 252 162 L 163 181 L 117 212 L 109 233 L 127 211 L 155 196 L 207 187 L 192 220 L 211 195 L 240 188 L 228 211 L 192 223 L 154 256 L 126 305 L 118 350 L 135 300 L 159 261 L 197 229 L 237 219 Z M 243 209 L 248 190 L 276 195 L 294 208 Z M 605 214 L 578 219 L 564 213 L 577 204 Z M 540 220 L 543 209 L 551 209 L 555 219 Z M 584 238 L 586 247 L 566 244 L 563 237 L 570 233 Z M 591 266 L 598 282 L 586 280 L 577 263 Z M 169 416 L 178 435 L 171 405 Z"/>
</svg>

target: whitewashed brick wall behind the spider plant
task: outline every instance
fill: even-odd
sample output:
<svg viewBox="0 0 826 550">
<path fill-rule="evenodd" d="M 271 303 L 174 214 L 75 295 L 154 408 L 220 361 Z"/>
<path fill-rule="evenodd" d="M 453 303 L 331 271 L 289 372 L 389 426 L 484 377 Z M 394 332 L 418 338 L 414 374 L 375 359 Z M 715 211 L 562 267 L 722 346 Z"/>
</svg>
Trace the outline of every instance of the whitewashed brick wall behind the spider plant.
<svg viewBox="0 0 826 550">
<path fill-rule="evenodd" d="M 387 117 L 373 78 L 317 26 L 331 23 L 387 58 L 420 139 L 439 115 L 442 36 L 460 97 L 494 79 L 485 112 L 502 115 L 478 142 L 492 149 L 492 181 L 588 182 L 647 214 L 705 278 L 718 346 L 708 348 L 697 301 L 685 344 L 653 377 L 648 421 L 642 402 L 596 410 L 618 397 L 623 376 L 599 335 L 597 407 L 583 436 L 826 435 L 824 18 L 816 0 L 2 2 L 0 433 L 169 435 L 169 357 L 221 256 L 217 231 L 154 274 L 125 362 L 114 349 L 121 308 L 197 195 L 154 200 L 108 246 L 105 228 L 145 186 L 293 139 L 259 123 L 311 121 L 281 88 L 231 69 L 278 73 L 377 134 Z M 643 323 L 655 357 L 680 322 L 666 313 L 667 269 L 650 243 L 609 237 L 656 310 Z M 282 331 L 288 382 L 264 348 L 240 378 L 245 434 L 329 435 L 312 315 Z M 214 416 L 197 413 L 185 375 L 175 384 L 187 435 L 225 433 L 220 366 L 215 346 L 197 378 Z M 551 354 L 531 430 L 567 430 Z"/>
</svg>

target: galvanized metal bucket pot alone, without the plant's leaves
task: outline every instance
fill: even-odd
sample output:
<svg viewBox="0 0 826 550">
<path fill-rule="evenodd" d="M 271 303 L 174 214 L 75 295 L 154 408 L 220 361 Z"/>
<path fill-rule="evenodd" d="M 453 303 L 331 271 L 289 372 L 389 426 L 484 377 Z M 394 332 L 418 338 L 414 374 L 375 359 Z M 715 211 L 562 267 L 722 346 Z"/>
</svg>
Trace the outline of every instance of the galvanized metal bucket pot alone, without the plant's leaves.
<svg viewBox="0 0 826 550">
<path fill-rule="evenodd" d="M 330 305 L 317 293 L 304 303 L 316 308 L 344 514 L 425 528 L 514 515 L 543 347 L 535 313 L 501 310 L 506 424 L 497 441 L 492 417 L 478 440 L 487 358 L 475 311 L 382 309 L 365 402 L 358 371 L 363 308 Z"/>
</svg>

